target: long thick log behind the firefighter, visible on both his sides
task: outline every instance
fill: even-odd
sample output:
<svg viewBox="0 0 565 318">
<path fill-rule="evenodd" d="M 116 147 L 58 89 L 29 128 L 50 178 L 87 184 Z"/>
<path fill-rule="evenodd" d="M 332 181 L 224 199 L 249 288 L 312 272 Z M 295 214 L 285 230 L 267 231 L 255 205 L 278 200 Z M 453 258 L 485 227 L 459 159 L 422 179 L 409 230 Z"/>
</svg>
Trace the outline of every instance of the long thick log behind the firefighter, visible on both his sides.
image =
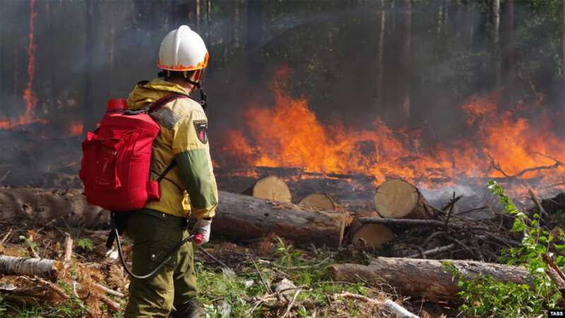
<svg viewBox="0 0 565 318">
<path fill-rule="evenodd" d="M 45 189 L 0 189 L 2 220 L 18 216 L 42 222 L 53 218 L 69 225 L 106 225 L 109 213 L 87 204 L 78 190 L 64 194 Z M 220 191 L 213 235 L 232 240 L 261 238 L 268 233 L 298 245 L 338 247 L 349 213 L 316 211 L 294 204 Z"/>
</svg>

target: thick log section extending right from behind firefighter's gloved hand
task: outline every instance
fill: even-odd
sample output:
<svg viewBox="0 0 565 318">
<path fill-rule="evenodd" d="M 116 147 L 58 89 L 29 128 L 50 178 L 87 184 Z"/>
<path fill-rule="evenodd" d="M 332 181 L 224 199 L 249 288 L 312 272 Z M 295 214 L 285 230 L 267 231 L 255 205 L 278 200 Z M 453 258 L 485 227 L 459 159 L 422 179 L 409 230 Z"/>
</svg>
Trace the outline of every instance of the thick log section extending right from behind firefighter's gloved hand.
<svg viewBox="0 0 565 318">
<path fill-rule="evenodd" d="M 234 240 L 252 240 L 269 233 L 297 245 L 339 247 L 349 213 L 313 211 L 220 191 L 212 235 Z"/>
</svg>

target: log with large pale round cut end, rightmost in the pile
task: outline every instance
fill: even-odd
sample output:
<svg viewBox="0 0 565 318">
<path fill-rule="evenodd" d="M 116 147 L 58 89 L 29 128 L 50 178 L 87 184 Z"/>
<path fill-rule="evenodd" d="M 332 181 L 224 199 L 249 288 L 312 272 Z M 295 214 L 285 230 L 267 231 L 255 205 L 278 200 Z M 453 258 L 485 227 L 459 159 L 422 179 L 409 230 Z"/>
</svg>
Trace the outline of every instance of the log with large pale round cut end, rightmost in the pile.
<svg viewBox="0 0 565 318">
<path fill-rule="evenodd" d="M 400 179 L 383 182 L 374 196 L 376 211 L 383 218 L 432 218 L 434 211 L 422 193 Z"/>
</svg>

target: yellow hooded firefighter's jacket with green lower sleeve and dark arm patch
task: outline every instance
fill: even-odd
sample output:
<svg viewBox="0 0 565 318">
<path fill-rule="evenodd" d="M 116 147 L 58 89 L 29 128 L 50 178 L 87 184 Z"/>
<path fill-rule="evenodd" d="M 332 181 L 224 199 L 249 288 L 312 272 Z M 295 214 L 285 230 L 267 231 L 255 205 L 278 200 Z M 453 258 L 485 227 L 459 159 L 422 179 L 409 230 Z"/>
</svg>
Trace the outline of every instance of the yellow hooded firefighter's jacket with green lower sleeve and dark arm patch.
<svg viewBox="0 0 565 318">
<path fill-rule="evenodd" d="M 170 93 L 189 95 L 175 83 L 160 79 L 139 82 L 127 99 L 130 110 L 138 110 Z M 198 102 L 181 98 L 163 105 L 150 116 L 161 126 L 153 141 L 151 179 L 155 180 L 172 160 L 177 165 L 160 182 L 160 201 L 152 208 L 172 216 L 211 218 L 218 206 L 218 187 L 210 159 L 208 119 Z"/>
</svg>

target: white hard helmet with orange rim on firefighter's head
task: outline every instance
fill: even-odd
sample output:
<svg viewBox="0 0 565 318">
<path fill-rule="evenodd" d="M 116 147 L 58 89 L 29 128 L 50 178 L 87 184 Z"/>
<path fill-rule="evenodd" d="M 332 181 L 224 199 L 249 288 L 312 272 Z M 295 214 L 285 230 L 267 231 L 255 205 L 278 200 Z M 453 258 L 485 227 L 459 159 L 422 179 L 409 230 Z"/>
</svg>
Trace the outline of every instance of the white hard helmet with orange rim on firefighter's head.
<svg viewBox="0 0 565 318">
<path fill-rule="evenodd" d="M 208 49 L 198 33 L 186 25 L 172 30 L 159 47 L 157 66 L 169 71 L 194 71 L 208 65 Z"/>
</svg>

